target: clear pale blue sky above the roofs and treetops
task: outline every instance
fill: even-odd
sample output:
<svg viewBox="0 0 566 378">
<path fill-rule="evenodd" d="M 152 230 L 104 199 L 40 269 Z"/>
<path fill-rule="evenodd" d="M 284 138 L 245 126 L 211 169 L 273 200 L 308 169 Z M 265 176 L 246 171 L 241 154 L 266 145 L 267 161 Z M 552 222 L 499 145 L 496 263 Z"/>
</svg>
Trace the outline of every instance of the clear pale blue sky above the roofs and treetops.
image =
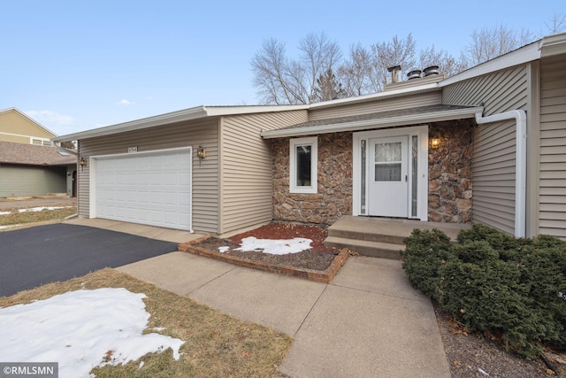
<svg viewBox="0 0 566 378">
<path fill-rule="evenodd" d="M 516 1 L 0 0 L 0 109 L 58 135 L 197 105 L 257 104 L 250 61 L 267 38 L 287 55 L 309 33 L 343 53 L 412 33 L 417 50 L 459 56 L 500 24 L 536 35 L 563 0 Z M 434 4 L 434 5 L 432 5 Z"/>
</svg>

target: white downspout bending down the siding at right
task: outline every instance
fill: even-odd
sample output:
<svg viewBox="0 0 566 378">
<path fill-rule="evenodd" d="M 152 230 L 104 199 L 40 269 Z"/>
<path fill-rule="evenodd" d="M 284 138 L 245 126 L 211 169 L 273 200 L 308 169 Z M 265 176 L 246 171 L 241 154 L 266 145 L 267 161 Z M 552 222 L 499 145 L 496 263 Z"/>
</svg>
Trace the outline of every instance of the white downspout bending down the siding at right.
<svg viewBox="0 0 566 378">
<path fill-rule="evenodd" d="M 526 229 L 527 115 L 522 109 L 483 117 L 476 113 L 478 125 L 516 120 L 515 236 L 524 237 Z"/>
</svg>

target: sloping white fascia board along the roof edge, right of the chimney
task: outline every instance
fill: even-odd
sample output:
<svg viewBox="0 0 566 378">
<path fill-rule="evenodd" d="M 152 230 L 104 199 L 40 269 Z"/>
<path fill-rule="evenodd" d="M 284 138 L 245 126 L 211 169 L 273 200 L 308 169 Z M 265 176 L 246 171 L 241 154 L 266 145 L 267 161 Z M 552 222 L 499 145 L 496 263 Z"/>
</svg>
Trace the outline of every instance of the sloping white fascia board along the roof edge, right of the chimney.
<svg viewBox="0 0 566 378">
<path fill-rule="evenodd" d="M 532 60 L 540 58 L 540 41 L 532 42 L 520 49 L 508 52 L 501 57 L 493 58 L 478 66 L 471 67 L 462 73 L 455 74 L 449 78 L 439 81 L 439 87 L 443 88 L 447 85 L 454 84 L 458 81 L 469 80 L 477 76 L 493 73 L 512 66 L 522 65 Z"/>
</svg>

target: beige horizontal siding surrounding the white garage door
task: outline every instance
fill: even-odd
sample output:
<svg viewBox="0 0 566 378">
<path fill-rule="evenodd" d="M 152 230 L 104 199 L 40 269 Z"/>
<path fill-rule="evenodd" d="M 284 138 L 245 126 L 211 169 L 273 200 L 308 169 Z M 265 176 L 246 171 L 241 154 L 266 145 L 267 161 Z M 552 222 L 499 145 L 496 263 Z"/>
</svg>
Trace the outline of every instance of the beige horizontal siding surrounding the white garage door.
<svg viewBox="0 0 566 378">
<path fill-rule="evenodd" d="M 193 228 L 196 232 L 218 233 L 218 119 L 181 122 L 174 125 L 80 140 L 80 158 L 123 154 L 128 147 L 138 151 L 193 147 Z M 202 146 L 206 158 L 199 162 L 196 150 Z M 79 213 L 89 216 L 90 166 L 79 167 Z"/>
</svg>

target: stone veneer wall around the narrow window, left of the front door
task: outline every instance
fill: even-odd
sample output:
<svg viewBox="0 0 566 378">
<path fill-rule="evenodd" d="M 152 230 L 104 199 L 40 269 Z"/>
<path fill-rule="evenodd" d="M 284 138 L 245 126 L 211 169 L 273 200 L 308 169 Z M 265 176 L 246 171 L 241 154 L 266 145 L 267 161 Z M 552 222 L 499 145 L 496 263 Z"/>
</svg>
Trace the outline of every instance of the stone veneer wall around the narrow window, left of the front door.
<svg viewBox="0 0 566 378">
<path fill-rule="evenodd" d="M 352 214 L 352 133 L 318 135 L 318 193 L 289 193 L 289 138 L 272 141 L 273 218 L 331 225 Z"/>
</svg>

